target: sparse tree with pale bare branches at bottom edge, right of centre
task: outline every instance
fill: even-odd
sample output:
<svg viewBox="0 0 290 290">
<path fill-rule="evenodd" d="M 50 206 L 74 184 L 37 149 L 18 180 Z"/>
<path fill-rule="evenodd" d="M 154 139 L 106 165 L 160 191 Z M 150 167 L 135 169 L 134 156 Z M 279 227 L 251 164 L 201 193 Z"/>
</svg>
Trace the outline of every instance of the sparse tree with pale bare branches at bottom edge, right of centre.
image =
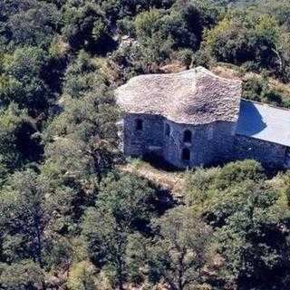
<svg viewBox="0 0 290 290">
<path fill-rule="evenodd" d="M 156 226 L 159 236 L 150 248 L 150 279 L 172 290 L 189 289 L 202 282 L 211 236 L 208 227 L 190 208 L 166 213 Z"/>
</svg>

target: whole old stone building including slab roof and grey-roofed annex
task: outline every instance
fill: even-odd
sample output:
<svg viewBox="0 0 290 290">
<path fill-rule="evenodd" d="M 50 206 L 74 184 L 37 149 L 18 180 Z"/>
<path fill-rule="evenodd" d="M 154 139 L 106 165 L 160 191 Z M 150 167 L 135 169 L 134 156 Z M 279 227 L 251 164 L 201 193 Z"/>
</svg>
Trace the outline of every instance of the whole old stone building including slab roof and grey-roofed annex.
<svg viewBox="0 0 290 290">
<path fill-rule="evenodd" d="M 290 111 L 241 99 L 241 82 L 198 67 L 132 78 L 116 91 L 125 155 L 178 168 L 255 159 L 290 168 Z"/>
</svg>

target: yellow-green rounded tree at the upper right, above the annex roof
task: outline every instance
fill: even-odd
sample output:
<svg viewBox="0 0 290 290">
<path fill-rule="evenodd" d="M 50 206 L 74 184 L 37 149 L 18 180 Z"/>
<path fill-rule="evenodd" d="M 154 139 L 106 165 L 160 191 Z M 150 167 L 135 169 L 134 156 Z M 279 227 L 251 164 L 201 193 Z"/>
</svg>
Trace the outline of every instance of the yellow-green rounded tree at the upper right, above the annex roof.
<svg viewBox="0 0 290 290">
<path fill-rule="evenodd" d="M 284 48 L 288 41 L 275 17 L 238 11 L 227 14 L 208 32 L 205 47 L 218 61 L 244 64 L 257 72 L 271 70 L 283 79 L 289 63 Z"/>
</svg>

